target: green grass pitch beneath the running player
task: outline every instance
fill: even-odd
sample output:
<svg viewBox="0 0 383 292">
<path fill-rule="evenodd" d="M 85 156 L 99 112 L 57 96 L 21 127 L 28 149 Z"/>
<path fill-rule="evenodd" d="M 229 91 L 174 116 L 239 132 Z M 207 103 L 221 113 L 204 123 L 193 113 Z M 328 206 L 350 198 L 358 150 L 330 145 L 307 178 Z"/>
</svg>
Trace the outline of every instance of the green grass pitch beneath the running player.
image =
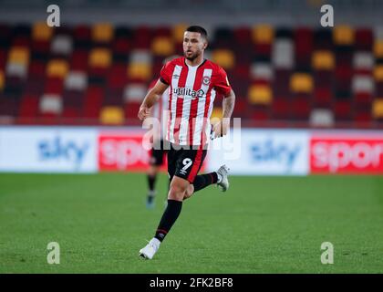
<svg viewBox="0 0 383 292">
<path fill-rule="evenodd" d="M 383 177 L 231 177 L 182 206 L 153 260 L 160 220 L 141 173 L 0 174 L 0 273 L 382 273 Z M 47 264 L 47 244 L 60 264 Z M 334 245 L 334 264 L 320 261 Z"/>
</svg>

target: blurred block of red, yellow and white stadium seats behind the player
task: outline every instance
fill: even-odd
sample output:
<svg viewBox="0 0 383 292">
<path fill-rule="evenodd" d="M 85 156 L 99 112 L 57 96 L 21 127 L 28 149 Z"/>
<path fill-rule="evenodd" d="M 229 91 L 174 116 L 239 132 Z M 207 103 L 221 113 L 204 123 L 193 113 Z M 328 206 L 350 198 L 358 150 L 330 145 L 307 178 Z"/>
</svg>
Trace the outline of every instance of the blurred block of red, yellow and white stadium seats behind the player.
<svg viewBox="0 0 383 292">
<path fill-rule="evenodd" d="M 1 112 L 98 124 L 101 109 L 117 106 L 122 123 L 137 124 L 147 83 L 181 48 L 186 26 L 0 25 Z M 206 57 L 226 69 L 238 117 L 313 127 L 382 120 L 383 29 L 209 28 Z"/>
</svg>

